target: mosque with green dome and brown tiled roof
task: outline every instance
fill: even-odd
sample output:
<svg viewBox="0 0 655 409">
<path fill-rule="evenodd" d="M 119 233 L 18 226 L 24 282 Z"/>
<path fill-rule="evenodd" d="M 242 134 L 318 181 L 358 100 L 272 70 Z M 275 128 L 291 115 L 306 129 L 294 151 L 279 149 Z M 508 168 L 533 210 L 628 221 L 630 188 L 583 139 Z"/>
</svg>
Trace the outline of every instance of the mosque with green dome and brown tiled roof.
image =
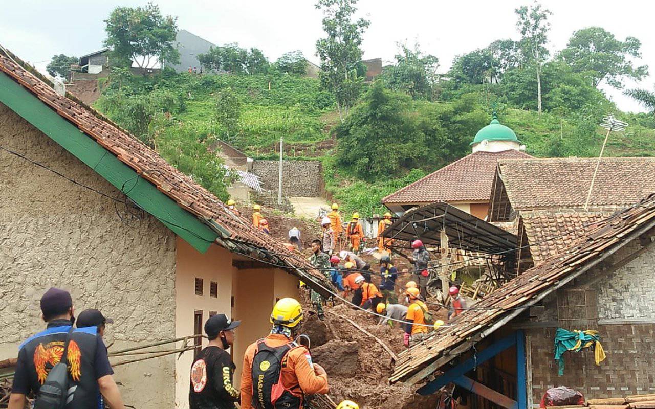
<svg viewBox="0 0 655 409">
<path fill-rule="evenodd" d="M 489 209 L 496 165 L 501 159 L 532 158 L 523 151 L 514 131 L 498 122 L 476 133 L 473 152 L 383 198 L 382 203 L 400 214 L 413 207 L 446 202 L 479 219 Z"/>
</svg>

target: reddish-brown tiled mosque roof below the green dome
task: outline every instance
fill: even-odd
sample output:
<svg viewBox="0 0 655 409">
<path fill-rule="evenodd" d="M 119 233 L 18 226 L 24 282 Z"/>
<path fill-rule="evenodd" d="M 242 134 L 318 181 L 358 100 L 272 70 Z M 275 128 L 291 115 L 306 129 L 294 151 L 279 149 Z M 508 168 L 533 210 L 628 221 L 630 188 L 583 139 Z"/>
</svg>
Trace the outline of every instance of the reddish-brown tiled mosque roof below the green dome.
<svg viewBox="0 0 655 409">
<path fill-rule="evenodd" d="M 489 200 L 499 159 L 532 158 L 508 149 L 502 152 L 477 151 L 464 156 L 383 198 L 383 204 L 458 202 Z"/>
</svg>

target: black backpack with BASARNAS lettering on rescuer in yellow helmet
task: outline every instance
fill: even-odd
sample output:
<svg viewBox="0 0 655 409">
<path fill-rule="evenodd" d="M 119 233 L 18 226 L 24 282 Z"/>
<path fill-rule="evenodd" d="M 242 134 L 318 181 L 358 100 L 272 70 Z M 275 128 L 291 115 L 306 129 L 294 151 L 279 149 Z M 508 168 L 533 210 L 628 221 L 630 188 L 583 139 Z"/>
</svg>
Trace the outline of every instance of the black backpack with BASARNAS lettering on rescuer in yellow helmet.
<svg viewBox="0 0 655 409">
<path fill-rule="evenodd" d="M 257 409 L 299 409 L 302 397 L 297 397 L 282 384 L 282 361 L 296 345 L 269 347 L 264 340 L 257 342 L 252 360 L 252 406 Z"/>
</svg>

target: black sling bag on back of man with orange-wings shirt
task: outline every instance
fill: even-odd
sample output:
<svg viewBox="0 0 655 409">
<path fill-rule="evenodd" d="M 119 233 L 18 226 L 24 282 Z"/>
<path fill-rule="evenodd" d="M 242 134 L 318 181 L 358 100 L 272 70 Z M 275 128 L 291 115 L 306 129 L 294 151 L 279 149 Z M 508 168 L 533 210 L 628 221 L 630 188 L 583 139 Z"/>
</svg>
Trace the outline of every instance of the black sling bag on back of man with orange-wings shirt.
<svg viewBox="0 0 655 409">
<path fill-rule="evenodd" d="M 62 359 L 52 367 L 41 385 L 37 399 L 34 400 L 34 409 L 64 409 L 66 404 L 73 400 L 77 386 L 68 389 L 68 344 L 71 342 L 71 332 L 72 325 L 66 336 Z"/>
</svg>

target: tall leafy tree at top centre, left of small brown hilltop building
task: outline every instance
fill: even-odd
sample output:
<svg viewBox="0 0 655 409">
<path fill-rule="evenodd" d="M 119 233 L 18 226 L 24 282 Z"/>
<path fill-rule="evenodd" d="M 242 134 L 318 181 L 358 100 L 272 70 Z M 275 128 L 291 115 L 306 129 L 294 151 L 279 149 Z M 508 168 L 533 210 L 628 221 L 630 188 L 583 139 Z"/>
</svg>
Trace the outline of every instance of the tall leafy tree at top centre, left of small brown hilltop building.
<svg viewBox="0 0 655 409">
<path fill-rule="evenodd" d="M 369 22 L 360 18 L 353 21 L 357 0 L 319 0 L 323 30 L 327 36 L 316 41 L 321 60 L 321 82 L 337 101 L 339 118 L 343 122 L 348 109 L 360 96 L 363 78 L 357 76 L 357 64 L 362 60 L 362 34 Z"/>
</svg>

